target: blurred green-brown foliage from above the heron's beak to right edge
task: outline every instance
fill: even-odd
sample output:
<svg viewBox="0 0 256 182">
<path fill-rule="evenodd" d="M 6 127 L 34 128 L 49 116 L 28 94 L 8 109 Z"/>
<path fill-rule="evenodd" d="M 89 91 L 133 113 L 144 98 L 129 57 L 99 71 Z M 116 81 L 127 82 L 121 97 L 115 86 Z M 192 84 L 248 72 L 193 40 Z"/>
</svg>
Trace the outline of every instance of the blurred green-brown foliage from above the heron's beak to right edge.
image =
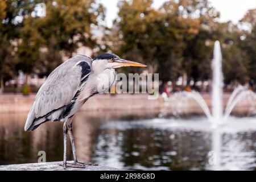
<svg viewBox="0 0 256 182">
<path fill-rule="evenodd" d="M 245 84 L 250 78 L 256 82 L 255 10 L 241 20 L 254 27 L 244 32 L 231 22 L 218 23 L 220 14 L 207 0 L 170 0 L 160 9 L 151 5 L 150 0 L 119 3 L 113 28 L 115 47 L 119 47 L 115 52 L 149 65 L 163 82 L 175 84 L 185 74 L 189 83 L 212 77 L 213 44 L 220 40 L 225 83 Z"/>
</svg>

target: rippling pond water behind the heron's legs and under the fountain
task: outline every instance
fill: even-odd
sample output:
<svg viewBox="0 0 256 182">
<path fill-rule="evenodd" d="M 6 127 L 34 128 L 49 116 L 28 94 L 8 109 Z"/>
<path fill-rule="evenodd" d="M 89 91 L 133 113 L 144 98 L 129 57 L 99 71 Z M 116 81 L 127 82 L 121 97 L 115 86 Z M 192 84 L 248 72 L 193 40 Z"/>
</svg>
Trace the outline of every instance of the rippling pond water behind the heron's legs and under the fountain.
<svg viewBox="0 0 256 182">
<path fill-rule="evenodd" d="M 77 156 L 123 169 L 256 169 L 256 118 L 231 117 L 217 130 L 204 117 L 189 118 L 158 118 L 153 111 L 77 113 Z M 0 164 L 35 163 L 39 151 L 47 162 L 63 160 L 62 123 L 28 133 L 25 120 L 26 114 L 0 115 Z"/>
</svg>

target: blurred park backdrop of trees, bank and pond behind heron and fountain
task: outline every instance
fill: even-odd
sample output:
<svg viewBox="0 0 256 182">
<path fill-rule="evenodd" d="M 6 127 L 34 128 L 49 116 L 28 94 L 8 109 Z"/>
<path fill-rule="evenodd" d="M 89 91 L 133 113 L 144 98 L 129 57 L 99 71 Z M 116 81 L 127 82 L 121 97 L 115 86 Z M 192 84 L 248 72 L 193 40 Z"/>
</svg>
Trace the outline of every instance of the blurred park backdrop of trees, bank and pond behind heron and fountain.
<svg viewBox="0 0 256 182">
<path fill-rule="evenodd" d="M 23 126 L 35 93 L 63 61 L 77 53 L 113 52 L 148 66 L 117 72 L 159 73 L 161 93 L 196 90 L 210 105 L 216 40 L 225 105 L 238 85 L 256 89 L 255 1 L 0 1 L 0 164 L 36 162 L 40 150 L 47 161 L 62 160 L 61 123 L 46 123 L 33 133 Z M 187 99 L 167 109 L 165 103 L 144 94 L 92 98 L 93 109 L 85 104 L 75 118 L 80 159 L 127 169 L 212 169 L 212 139 L 202 129 L 208 127 L 200 107 Z M 246 101 L 233 119 L 246 117 L 246 128 L 253 129 L 255 113 L 254 103 Z M 176 128 L 172 122 L 183 124 Z M 195 123 L 199 129 L 183 127 Z M 221 136 L 224 169 L 256 169 L 254 129 Z"/>
</svg>

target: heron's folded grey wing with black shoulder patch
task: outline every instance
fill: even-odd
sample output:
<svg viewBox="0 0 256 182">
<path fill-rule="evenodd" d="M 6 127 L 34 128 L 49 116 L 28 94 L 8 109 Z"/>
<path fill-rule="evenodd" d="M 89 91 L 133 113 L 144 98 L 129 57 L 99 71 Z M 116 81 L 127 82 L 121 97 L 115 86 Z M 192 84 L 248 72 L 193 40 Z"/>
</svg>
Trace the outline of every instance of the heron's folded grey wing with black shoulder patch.
<svg viewBox="0 0 256 182">
<path fill-rule="evenodd" d="M 52 71 L 36 94 L 25 130 L 32 125 L 59 119 L 63 107 L 72 101 L 82 80 L 89 76 L 91 61 L 89 57 L 77 55 Z"/>
</svg>

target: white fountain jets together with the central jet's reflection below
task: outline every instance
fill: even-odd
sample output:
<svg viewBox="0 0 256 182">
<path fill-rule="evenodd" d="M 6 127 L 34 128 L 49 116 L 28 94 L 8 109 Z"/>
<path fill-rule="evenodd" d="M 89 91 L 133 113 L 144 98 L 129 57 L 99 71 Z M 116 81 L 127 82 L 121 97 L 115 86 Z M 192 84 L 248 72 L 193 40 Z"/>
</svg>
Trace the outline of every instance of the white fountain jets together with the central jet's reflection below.
<svg viewBox="0 0 256 182">
<path fill-rule="evenodd" d="M 230 125 L 224 126 L 224 124 L 227 124 L 228 117 L 234 107 L 247 96 L 255 97 L 255 93 L 248 90 L 245 86 L 237 86 L 230 95 L 225 110 L 223 111 L 222 94 L 224 83 L 222 76 L 222 55 L 220 42 L 218 41 L 214 43 L 212 71 L 212 113 L 199 92 L 179 92 L 175 93 L 173 97 L 190 97 L 203 109 L 212 126 L 210 127 L 210 132 L 212 133 L 212 151 L 209 152 L 209 158 L 213 158 L 214 160 L 212 161 L 213 164 L 210 165 L 212 165 L 212 169 L 219 170 L 221 169 L 222 134 L 224 134 L 227 129 L 230 129 Z M 166 101 L 168 101 L 168 99 Z"/>
</svg>

